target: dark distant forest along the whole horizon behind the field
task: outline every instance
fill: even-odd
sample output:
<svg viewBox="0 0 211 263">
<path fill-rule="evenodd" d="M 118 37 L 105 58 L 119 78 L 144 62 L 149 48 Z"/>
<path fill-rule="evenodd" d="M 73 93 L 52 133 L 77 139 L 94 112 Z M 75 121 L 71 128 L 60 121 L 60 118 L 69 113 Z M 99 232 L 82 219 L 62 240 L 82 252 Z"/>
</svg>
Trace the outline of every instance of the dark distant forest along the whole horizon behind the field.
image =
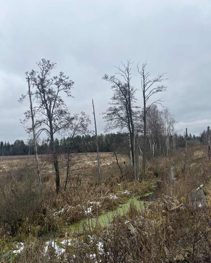
<svg viewBox="0 0 211 263">
<path fill-rule="evenodd" d="M 140 138 L 141 139 L 141 138 Z M 203 145 L 207 144 L 207 131 L 203 131 L 200 136 L 191 135 L 187 137 L 189 144 Z M 165 138 L 163 138 L 165 141 Z M 173 143 L 173 137 L 170 135 L 169 144 Z M 175 148 L 184 147 L 185 139 L 181 134 L 175 134 Z M 55 139 L 55 145 L 58 153 L 65 153 L 71 148 L 72 153 L 94 153 L 96 152 L 95 135 L 83 135 L 76 136 L 70 139 L 70 137 Z M 158 143 L 155 143 L 158 145 Z M 38 143 L 38 154 L 50 153 L 50 145 L 47 140 L 42 140 Z M 118 152 L 123 153 L 129 149 L 128 136 L 120 133 L 108 133 L 98 135 L 98 147 L 100 152 Z M 148 151 L 150 150 L 150 137 L 147 144 Z M 156 147 L 159 151 L 159 147 Z M 169 146 L 171 148 L 171 146 Z M 163 151 L 163 149 L 161 149 Z M 23 140 L 16 140 L 14 143 L 6 141 L 0 142 L 0 156 L 4 155 L 33 155 L 34 146 L 33 139 L 29 139 L 27 142 Z"/>
</svg>

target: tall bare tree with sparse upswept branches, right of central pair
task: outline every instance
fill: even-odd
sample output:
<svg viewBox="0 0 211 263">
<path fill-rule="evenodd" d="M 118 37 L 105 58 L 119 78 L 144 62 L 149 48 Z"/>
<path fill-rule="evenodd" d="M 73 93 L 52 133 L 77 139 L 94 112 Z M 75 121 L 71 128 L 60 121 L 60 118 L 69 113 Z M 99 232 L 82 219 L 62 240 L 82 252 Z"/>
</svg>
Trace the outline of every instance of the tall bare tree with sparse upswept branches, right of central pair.
<svg viewBox="0 0 211 263">
<path fill-rule="evenodd" d="M 144 98 L 144 111 L 143 111 L 143 120 L 144 120 L 144 146 L 143 146 L 143 159 L 142 159 L 142 178 L 145 176 L 145 170 L 146 170 L 146 141 L 147 141 L 147 111 L 151 108 L 151 106 L 154 103 L 161 104 L 161 99 L 153 101 L 149 107 L 146 107 L 147 102 L 149 99 L 158 92 L 166 91 L 166 86 L 159 85 L 154 87 L 155 84 L 160 83 L 165 80 L 164 74 L 158 74 L 157 77 L 154 79 L 149 79 L 149 72 L 145 71 L 147 63 L 142 64 L 142 69 L 139 70 L 139 66 L 137 65 L 138 72 L 141 75 L 141 87 L 142 87 L 142 93 Z M 162 104 L 161 104 L 162 105 Z"/>
</svg>

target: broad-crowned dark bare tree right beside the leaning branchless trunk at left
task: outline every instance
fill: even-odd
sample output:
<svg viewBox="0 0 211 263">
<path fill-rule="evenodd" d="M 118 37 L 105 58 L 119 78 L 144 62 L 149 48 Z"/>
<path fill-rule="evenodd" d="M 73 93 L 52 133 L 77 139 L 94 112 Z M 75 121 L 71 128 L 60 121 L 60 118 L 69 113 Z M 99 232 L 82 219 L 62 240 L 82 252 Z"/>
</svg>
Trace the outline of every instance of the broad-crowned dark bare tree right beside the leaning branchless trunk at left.
<svg viewBox="0 0 211 263">
<path fill-rule="evenodd" d="M 59 160 L 54 142 L 54 134 L 61 133 L 69 127 L 70 114 L 64 103 L 62 92 L 68 97 L 72 97 L 70 89 L 74 82 L 69 77 L 60 72 L 57 76 L 50 76 L 51 71 L 55 69 L 56 63 L 50 60 L 42 59 L 37 63 L 39 71 L 31 70 L 26 72 L 26 77 L 30 78 L 32 85 L 31 95 L 34 97 L 36 106 L 34 107 L 34 115 L 37 115 L 35 129 L 37 136 L 45 131 L 50 140 L 50 149 L 53 157 L 53 163 L 56 173 L 56 192 L 59 191 Z M 22 95 L 20 100 L 25 98 Z M 25 120 L 30 117 L 30 112 L 25 113 Z M 68 120 L 68 121 L 67 121 Z"/>
</svg>

